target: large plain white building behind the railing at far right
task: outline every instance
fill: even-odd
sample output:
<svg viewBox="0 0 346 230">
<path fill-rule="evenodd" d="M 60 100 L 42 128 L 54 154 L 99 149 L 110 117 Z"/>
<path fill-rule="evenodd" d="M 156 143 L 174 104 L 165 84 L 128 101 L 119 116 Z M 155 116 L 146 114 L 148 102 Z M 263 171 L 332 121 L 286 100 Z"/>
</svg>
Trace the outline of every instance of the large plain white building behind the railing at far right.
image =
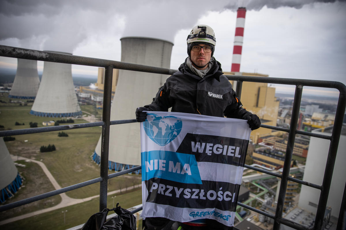
<svg viewBox="0 0 346 230">
<path fill-rule="evenodd" d="M 313 130 L 312 133 L 331 136 L 333 126 Z M 330 141 L 317 137 L 310 138 L 310 145 L 306 165 L 304 170 L 303 181 L 309 181 L 314 184 L 322 184 L 325 166 L 327 162 L 328 149 Z M 338 217 L 341 199 L 346 182 L 346 124 L 343 124 L 339 146 L 336 154 L 336 160 L 331 179 L 327 206 L 331 207 L 331 216 Z M 308 186 L 302 186 L 299 196 L 298 206 L 305 210 L 315 213 L 320 198 L 320 190 Z"/>
</svg>

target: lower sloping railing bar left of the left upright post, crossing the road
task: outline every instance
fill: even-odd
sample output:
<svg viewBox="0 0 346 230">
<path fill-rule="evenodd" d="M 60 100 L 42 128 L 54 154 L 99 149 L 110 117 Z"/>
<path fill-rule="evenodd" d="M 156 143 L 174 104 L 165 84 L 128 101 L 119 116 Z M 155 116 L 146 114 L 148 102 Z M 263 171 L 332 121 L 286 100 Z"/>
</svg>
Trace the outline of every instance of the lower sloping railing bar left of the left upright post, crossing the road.
<svg viewBox="0 0 346 230">
<path fill-rule="evenodd" d="M 88 180 L 88 181 L 84 181 L 84 182 L 81 182 L 81 183 L 78 183 L 78 184 L 73 184 L 71 186 L 67 186 L 65 188 L 57 189 L 57 190 L 54 190 L 54 191 L 42 193 L 42 194 L 39 194 L 37 196 L 29 197 L 29 198 L 26 198 L 26 199 L 23 199 L 23 200 L 19 200 L 19 201 L 13 202 L 13 203 L 5 204 L 4 206 L 0 206 L 0 212 L 9 210 L 11 208 L 16 208 L 16 207 L 22 206 L 24 204 L 32 203 L 32 202 L 35 202 L 35 201 L 38 201 L 38 200 L 42 200 L 42 199 L 45 199 L 45 198 L 48 198 L 48 197 L 52 197 L 52 196 L 55 196 L 55 195 L 58 195 L 58 194 L 61 194 L 61 193 L 64 193 L 64 192 L 68 192 L 68 191 L 71 191 L 71 190 L 74 190 L 74 189 L 79 189 L 79 188 L 82 188 L 84 186 L 88 186 L 90 184 L 94 184 L 94 183 L 97 183 L 97 182 L 100 182 L 100 181 L 102 181 L 101 177 L 95 178 L 95 179 L 92 179 L 92 180 Z"/>
</svg>

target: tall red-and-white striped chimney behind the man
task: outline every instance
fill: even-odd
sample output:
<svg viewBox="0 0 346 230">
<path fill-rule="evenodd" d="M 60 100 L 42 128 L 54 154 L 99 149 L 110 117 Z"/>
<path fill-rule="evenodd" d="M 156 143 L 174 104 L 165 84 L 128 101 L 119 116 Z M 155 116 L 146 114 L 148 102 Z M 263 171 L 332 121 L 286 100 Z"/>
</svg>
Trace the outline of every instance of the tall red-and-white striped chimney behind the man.
<svg viewBox="0 0 346 230">
<path fill-rule="evenodd" d="M 240 60 L 242 59 L 243 36 L 245 26 L 246 8 L 239 7 L 237 10 L 236 33 L 234 37 L 232 72 L 240 72 Z"/>
</svg>

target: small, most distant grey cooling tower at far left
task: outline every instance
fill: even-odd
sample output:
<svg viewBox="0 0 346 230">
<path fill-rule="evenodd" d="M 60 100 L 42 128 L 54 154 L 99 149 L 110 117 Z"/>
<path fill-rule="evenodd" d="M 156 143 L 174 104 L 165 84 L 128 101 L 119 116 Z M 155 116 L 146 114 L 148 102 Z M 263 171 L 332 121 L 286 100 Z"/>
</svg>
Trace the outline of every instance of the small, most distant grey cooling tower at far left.
<svg viewBox="0 0 346 230">
<path fill-rule="evenodd" d="M 37 61 L 17 59 L 17 73 L 8 97 L 35 99 L 40 79 L 37 73 Z"/>
</svg>

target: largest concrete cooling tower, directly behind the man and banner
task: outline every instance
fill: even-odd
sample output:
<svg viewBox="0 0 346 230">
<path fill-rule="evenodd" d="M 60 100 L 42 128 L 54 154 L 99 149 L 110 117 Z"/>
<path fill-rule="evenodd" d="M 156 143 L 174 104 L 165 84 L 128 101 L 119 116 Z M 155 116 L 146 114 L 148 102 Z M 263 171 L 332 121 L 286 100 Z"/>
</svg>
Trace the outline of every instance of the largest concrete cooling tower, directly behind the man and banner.
<svg viewBox="0 0 346 230">
<path fill-rule="evenodd" d="M 160 39 L 125 37 L 121 40 L 121 61 L 170 68 L 173 43 Z M 137 107 L 150 104 L 167 75 L 120 70 L 110 120 L 134 119 Z M 93 160 L 100 163 L 101 137 Z M 139 123 L 110 127 L 109 169 L 116 171 L 140 165 Z"/>
</svg>

